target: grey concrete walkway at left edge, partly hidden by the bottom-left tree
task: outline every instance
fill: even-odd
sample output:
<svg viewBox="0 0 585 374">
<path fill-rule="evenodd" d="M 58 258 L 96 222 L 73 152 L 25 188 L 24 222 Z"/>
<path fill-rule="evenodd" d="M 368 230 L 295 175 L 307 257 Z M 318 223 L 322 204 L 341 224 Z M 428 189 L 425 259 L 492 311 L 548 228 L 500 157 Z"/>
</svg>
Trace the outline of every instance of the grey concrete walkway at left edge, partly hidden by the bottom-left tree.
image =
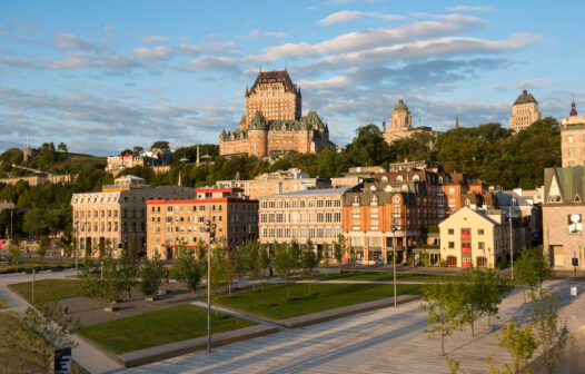
<svg viewBox="0 0 585 374">
<path fill-rule="evenodd" d="M 71 275 L 75 275 L 75 270 L 66 270 L 58 273 L 41 272 L 40 274 L 37 274 L 34 276 L 34 279 L 65 279 L 67 276 Z M 31 280 L 31 274 L 11 274 L 0 276 L 0 298 L 2 298 L 9 306 L 8 309 L 2 309 L 0 312 L 13 311 L 19 314 L 24 313 L 24 311 L 27 309 L 27 307 L 30 306 L 30 304 L 27 303 L 19 295 L 13 293 L 10 288 L 8 288 L 8 285 L 13 283 Z M 92 374 L 106 373 L 122 367 L 119 363 L 108 357 L 99 350 L 88 344 L 86 341 L 79 338 L 77 335 L 73 335 L 72 339 L 78 344 L 78 346 L 73 348 L 73 360 L 88 372 Z"/>
</svg>

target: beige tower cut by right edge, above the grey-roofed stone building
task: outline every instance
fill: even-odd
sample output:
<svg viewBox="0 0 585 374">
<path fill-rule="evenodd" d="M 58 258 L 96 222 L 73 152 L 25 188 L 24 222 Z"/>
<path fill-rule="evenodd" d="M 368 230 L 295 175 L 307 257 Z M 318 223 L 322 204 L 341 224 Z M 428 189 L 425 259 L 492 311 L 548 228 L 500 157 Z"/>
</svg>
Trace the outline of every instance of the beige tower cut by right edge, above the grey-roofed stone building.
<svg viewBox="0 0 585 374">
<path fill-rule="evenodd" d="M 585 116 L 578 116 L 575 101 L 571 114 L 561 120 L 561 155 L 563 167 L 585 166 Z"/>
</svg>

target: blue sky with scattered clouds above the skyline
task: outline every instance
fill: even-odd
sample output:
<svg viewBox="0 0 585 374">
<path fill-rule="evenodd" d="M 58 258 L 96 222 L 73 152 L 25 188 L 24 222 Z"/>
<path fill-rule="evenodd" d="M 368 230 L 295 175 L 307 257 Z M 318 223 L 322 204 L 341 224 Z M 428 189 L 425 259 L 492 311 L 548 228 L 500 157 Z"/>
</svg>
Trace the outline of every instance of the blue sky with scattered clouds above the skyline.
<svg viewBox="0 0 585 374">
<path fill-rule="evenodd" d="M 218 142 L 262 70 L 346 145 L 398 99 L 416 126 L 499 122 L 525 88 L 585 112 L 576 1 L 0 1 L 0 151 L 65 141 L 117 155 Z"/>
</svg>

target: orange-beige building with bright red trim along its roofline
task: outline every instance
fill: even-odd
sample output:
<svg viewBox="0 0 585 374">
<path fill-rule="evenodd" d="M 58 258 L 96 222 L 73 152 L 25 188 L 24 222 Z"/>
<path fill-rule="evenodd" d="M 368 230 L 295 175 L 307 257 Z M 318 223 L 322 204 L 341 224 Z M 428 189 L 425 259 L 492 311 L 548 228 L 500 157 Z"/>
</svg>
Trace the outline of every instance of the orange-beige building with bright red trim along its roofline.
<svg viewBox="0 0 585 374">
<path fill-rule="evenodd" d="M 177 248 L 209 243 L 206 222 L 216 225 L 216 246 L 238 246 L 258 239 L 258 200 L 240 188 L 199 188 L 197 198 L 147 201 L 147 255 L 175 258 Z"/>
</svg>

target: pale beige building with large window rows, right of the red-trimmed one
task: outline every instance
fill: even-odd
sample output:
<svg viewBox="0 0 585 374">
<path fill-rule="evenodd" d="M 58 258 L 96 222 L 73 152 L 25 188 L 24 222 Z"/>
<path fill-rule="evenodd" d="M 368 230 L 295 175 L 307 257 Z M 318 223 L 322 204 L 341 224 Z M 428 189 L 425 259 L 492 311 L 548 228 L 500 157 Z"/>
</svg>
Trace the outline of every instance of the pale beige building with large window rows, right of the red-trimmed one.
<svg viewBox="0 0 585 374">
<path fill-rule="evenodd" d="M 347 187 L 309 189 L 262 196 L 260 201 L 260 243 L 305 244 L 328 250 L 343 235 L 343 196 Z"/>
</svg>

